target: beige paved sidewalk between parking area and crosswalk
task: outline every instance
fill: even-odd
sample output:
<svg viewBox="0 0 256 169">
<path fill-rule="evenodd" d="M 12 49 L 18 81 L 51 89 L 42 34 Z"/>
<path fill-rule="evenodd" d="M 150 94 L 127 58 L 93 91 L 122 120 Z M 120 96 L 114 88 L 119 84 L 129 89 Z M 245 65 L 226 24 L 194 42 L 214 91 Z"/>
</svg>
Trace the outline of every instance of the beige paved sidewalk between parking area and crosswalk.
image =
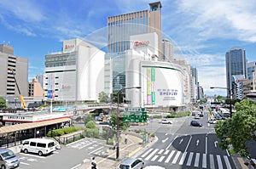
<svg viewBox="0 0 256 169">
<path fill-rule="evenodd" d="M 142 144 L 143 139 L 134 135 L 128 135 L 128 143 L 119 143 L 119 161 L 115 160 L 116 150 L 108 149 L 108 152 L 104 152 L 101 156 L 96 157 L 97 169 L 116 169 L 119 163 L 126 158 L 137 155 L 137 153 L 143 148 L 148 148 L 153 142 L 148 144 Z M 125 138 L 124 134 L 121 134 L 122 138 Z M 90 159 L 84 159 L 83 163 L 73 169 L 90 169 Z"/>
</svg>

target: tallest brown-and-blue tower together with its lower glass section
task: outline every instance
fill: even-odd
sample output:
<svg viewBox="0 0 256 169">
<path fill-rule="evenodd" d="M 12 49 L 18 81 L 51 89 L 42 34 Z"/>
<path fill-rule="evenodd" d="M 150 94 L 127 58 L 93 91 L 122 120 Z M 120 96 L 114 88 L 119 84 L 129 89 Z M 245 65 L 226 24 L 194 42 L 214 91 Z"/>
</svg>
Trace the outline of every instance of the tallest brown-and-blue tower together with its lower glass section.
<svg viewBox="0 0 256 169">
<path fill-rule="evenodd" d="M 108 17 L 108 54 L 105 56 L 105 65 L 108 65 L 105 72 L 109 72 L 105 74 L 105 91 L 108 94 L 125 87 L 124 52 L 131 48 L 130 36 L 156 32 L 161 42 L 162 5 L 149 3 L 149 7 L 149 10 Z M 161 43 L 156 48 L 161 58 Z"/>
</svg>

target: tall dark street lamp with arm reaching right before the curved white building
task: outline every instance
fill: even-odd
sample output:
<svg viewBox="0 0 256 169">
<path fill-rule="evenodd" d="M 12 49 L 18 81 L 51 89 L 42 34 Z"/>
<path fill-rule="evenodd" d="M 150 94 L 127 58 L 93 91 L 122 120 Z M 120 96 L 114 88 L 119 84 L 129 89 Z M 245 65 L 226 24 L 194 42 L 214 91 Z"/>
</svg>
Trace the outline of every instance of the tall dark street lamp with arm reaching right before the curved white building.
<svg viewBox="0 0 256 169">
<path fill-rule="evenodd" d="M 117 133 L 116 133 L 116 138 L 117 138 L 117 141 L 116 141 L 116 160 L 118 161 L 119 160 L 119 136 L 120 136 L 120 127 L 119 127 L 119 95 L 120 93 L 125 90 L 125 89 L 132 89 L 132 88 L 137 88 L 137 89 L 140 89 L 142 87 L 124 87 L 124 88 L 121 88 L 118 92 L 118 107 L 117 107 Z"/>
</svg>

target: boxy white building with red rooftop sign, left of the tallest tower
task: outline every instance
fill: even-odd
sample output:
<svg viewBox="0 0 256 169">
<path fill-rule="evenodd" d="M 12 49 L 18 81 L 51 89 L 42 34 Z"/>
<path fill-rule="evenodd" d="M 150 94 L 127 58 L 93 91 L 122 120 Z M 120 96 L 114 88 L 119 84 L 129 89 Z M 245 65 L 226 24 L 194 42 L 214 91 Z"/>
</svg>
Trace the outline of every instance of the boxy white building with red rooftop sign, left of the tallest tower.
<svg viewBox="0 0 256 169">
<path fill-rule="evenodd" d="M 60 53 L 45 56 L 45 99 L 95 101 L 104 91 L 104 52 L 88 42 L 63 42 Z"/>
</svg>

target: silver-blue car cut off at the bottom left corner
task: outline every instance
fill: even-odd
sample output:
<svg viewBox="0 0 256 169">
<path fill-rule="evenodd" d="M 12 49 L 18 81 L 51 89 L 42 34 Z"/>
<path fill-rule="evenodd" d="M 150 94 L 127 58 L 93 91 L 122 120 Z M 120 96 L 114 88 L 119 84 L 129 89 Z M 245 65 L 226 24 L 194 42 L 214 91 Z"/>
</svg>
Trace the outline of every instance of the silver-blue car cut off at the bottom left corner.
<svg viewBox="0 0 256 169">
<path fill-rule="evenodd" d="M 0 167 L 15 168 L 20 166 L 20 158 L 10 149 L 0 149 Z"/>
</svg>

